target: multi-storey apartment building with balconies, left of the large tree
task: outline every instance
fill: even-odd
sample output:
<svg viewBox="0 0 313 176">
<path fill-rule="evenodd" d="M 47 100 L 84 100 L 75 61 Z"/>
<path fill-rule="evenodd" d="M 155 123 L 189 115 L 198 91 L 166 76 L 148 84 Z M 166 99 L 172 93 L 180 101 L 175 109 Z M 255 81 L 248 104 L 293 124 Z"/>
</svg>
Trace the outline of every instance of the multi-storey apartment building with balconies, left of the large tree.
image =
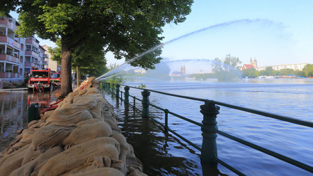
<svg viewBox="0 0 313 176">
<path fill-rule="evenodd" d="M 31 67 L 48 68 L 46 49 L 34 38 L 19 38 L 15 30 L 19 23 L 10 15 L 0 17 L 0 79 L 24 80 Z"/>
</svg>

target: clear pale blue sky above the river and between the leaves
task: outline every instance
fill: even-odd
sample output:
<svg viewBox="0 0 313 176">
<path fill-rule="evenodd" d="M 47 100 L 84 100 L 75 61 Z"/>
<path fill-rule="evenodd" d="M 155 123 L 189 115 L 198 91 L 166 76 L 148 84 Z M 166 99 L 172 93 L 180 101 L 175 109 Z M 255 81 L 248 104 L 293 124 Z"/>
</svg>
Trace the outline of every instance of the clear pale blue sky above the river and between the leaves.
<svg viewBox="0 0 313 176">
<path fill-rule="evenodd" d="M 200 31 L 164 45 L 164 61 L 211 61 L 230 54 L 242 64 L 256 59 L 259 67 L 313 63 L 312 0 L 194 0 L 191 10 L 185 22 L 163 27 L 162 42 Z M 49 40 L 40 45 L 55 46 Z M 106 58 L 107 63 L 124 63 L 112 54 Z"/>
</svg>

